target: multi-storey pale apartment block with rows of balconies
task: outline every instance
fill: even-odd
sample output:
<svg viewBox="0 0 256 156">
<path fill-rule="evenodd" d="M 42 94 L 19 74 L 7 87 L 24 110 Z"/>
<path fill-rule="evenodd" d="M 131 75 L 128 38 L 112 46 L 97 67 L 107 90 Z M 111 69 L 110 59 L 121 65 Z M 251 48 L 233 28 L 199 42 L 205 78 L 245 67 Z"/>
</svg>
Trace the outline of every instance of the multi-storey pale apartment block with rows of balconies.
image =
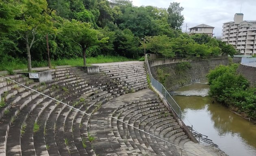
<svg viewBox="0 0 256 156">
<path fill-rule="evenodd" d="M 222 41 L 234 45 L 239 54 L 256 54 L 256 21 L 244 21 L 243 13 L 236 13 L 222 28 Z"/>
</svg>

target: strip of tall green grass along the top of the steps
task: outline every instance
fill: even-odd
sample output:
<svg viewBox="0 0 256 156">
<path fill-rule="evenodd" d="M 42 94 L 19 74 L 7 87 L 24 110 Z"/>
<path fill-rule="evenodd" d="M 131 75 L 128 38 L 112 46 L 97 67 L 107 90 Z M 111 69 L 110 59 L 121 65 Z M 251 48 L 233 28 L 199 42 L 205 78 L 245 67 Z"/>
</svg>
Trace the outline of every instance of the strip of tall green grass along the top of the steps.
<svg viewBox="0 0 256 156">
<path fill-rule="evenodd" d="M 109 62 L 122 62 L 122 61 L 133 61 L 134 59 L 129 59 L 123 56 L 104 56 L 99 55 L 97 57 L 86 58 L 87 65 L 93 63 L 109 63 Z M 58 59 L 51 61 L 52 66 L 60 65 L 71 65 L 71 66 L 82 66 L 83 58 L 71 58 L 71 59 Z M 48 61 L 32 61 L 32 67 L 47 67 Z M 15 70 L 15 69 L 27 69 L 26 60 L 13 59 L 11 61 L 1 62 L 0 71 L 2 70 Z"/>
</svg>

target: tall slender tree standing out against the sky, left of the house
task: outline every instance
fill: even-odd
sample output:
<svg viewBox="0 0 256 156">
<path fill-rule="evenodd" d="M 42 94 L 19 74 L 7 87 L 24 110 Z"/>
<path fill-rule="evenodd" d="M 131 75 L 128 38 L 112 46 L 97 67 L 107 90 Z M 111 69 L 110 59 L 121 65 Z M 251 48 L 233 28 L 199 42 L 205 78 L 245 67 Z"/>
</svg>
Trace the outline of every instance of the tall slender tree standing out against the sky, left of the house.
<svg viewBox="0 0 256 156">
<path fill-rule="evenodd" d="M 171 2 L 169 8 L 167 9 L 168 12 L 168 23 L 171 28 L 174 29 L 181 29 L 181 26 L 184 22 L 184 16 L 181 15 L 181 11 L 184 8 L 180 6 L 178 2 Z"/>
</svg>

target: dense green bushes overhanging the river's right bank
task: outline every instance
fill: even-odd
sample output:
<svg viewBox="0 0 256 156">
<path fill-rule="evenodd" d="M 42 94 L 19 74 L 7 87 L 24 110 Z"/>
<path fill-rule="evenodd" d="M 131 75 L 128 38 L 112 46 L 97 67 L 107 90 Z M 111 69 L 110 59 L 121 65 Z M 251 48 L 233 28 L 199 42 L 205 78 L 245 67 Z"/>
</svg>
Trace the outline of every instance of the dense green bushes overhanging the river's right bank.
<svg viewBox="0 0 256 156">
<path fill-rule="evenodd" d="M 207 75 L 210 95 L 231 108 L 256 119 L 256 88 L 249 87 L 249 81 L 236 73 L 238 64 L 220 65 Z"/>
</svg>

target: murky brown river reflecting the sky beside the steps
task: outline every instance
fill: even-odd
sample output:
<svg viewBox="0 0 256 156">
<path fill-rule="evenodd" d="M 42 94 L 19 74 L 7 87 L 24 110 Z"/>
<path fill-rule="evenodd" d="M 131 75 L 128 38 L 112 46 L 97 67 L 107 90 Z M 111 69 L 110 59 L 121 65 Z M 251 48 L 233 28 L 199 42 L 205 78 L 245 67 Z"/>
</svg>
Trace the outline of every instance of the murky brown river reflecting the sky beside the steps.
<svg viewBox="0 0 256 156">
<path fill-rule="evenodd" d="M 184 113 L 184 123 L 192 123 L 193 129 L 208 136 L 229 156 L 256 156 L 256 125 L 213 103 L 208 91 L 206 83 L 195 83 L 172 93 Z"/>
</svg>

